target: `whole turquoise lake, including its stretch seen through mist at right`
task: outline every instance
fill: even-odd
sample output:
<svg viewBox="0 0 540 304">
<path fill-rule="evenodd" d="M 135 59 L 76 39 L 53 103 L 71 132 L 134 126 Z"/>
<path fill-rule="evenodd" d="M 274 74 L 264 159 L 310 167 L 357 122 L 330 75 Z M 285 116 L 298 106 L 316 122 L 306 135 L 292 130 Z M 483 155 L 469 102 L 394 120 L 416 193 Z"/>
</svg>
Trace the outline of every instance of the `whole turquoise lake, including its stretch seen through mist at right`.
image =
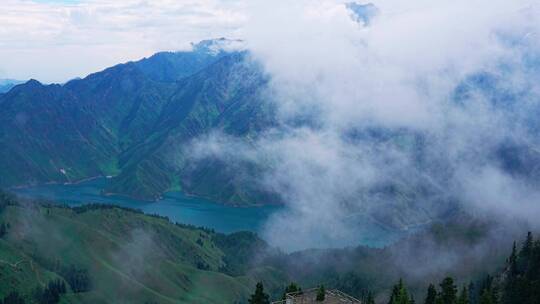
<svg viewBox="0 0 540 304">
<path fill-rule="evenodd" d="M 218 232 L 252 231 L 258 233 L 259 236 L 264 236 L 261 232 L 268 218 L 284 208 L 281 206 L 234 207 L 188 196 L 181 192 L 168 192 L 157 202 L 141 201 L 124 196 L 101 195 L 101 190 L 108 182 L 106 178 L 98 178 L 78 184 L 44 184 L 16 188 L 12 189 L 12 192 L 20 197 L 45 199 L 69 206 L 89 203 L 117 205 L 139 209 L 146 214 L 167 216 L 173 222 L 207 227 Z M 358 232 L 357 239 L 326 238 L 316 244 L 325 244 L 324 247 L 346 247 L 351 244 L 383 247 L 407 234 L 403 231 L 388 230 L 362 216 L 351 215 L 348 220 L 351 222 L 351 227 L 356 226 L 354 229 Z M 316 244 L 312 244 L 312 247 Z M 304 249 L 302 246 L 291 247 L 296 250 Z"/>
</svg>

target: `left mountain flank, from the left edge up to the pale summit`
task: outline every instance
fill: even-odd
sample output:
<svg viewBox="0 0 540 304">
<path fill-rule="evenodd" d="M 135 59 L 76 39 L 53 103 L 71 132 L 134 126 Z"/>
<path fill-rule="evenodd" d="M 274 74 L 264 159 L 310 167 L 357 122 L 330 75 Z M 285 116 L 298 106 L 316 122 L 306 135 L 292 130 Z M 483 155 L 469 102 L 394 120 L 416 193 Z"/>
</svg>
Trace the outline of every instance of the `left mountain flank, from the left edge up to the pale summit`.
<svg viewBox="0 0 540 304">
<path fill-rule="evenodd" d="M 162 108 L 188 82 L 180 80 L 225 56 L 209 46 L 158 53 L 65 85 L 30 80 L 1 95 L 0 169 L 10 174 L 0 185 L 118 174 L 121 155 L 159 131 Z"/>
</svg>

